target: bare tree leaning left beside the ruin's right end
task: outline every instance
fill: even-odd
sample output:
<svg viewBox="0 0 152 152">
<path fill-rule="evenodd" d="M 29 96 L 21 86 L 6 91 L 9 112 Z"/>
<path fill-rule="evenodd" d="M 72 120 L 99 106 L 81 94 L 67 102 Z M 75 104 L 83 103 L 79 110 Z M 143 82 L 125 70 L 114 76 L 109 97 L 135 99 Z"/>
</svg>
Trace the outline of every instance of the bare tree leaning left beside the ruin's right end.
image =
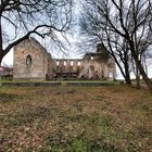
<svg viewBox="0 0 152 152">
<path fill-rule="evenodd" d="M 83 15 L 80 16 L 79 25 L 80 33 L 85 35 L 86 38 L 86 42 L 84 43 L 83 41 L 83 45 L 85 47 L 90 47 L 97 46 L 99 42 L 104 43 L 104 47 L 122 72 L 126 84 L 131 85 L 129 64 L 130 51 L 128 51 L 127 41 L 118 34 L 110 30 L 100 12 L 90 5 L 83 5 Z"/>
</svg>

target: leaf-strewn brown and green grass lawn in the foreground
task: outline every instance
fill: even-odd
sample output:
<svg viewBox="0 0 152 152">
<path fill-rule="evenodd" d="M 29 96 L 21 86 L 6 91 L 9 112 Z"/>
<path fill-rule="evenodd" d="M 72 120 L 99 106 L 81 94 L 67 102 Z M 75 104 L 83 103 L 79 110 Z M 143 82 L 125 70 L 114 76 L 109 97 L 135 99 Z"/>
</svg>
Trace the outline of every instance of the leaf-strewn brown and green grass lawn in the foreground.
<svg viewBox="0 0 152 152">
<path fill-rule="evenodd" d="M 126 86 L 0 87 L 0 151 L 152 152 L 152 96 Z"/>
</svg>

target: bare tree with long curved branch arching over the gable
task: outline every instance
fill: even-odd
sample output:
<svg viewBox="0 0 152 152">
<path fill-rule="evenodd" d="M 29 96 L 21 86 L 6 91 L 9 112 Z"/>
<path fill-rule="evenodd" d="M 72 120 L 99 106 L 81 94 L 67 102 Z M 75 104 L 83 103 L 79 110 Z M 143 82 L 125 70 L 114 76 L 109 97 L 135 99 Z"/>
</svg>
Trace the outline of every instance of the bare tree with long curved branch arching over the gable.
<svg viewBox="0 0 152 152">
<path fill-rule="evenodd" d="M 0 64 L 15 45 L 31 34 L 42 38 L 50 37 L 59 42 L 58 36 L 64 37 L 64 33 L 71 27 L 72 2 L 72 0 L 1 0 Z"/>
</svg>

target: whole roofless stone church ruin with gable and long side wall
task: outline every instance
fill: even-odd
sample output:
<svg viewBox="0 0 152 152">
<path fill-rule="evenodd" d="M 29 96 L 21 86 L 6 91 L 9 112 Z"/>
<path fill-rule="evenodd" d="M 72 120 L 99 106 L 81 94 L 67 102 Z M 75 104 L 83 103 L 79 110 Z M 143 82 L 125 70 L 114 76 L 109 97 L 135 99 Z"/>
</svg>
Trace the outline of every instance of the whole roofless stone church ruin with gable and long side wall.
<svg viewBox="0 0 152 152">
<path fill-rule="evenodd" d="M 83 59 L 52 59 L 34 38 L 14 47 L 13 79 L 114 79 L 115 62 L 100 43 Z"/>
</svg>

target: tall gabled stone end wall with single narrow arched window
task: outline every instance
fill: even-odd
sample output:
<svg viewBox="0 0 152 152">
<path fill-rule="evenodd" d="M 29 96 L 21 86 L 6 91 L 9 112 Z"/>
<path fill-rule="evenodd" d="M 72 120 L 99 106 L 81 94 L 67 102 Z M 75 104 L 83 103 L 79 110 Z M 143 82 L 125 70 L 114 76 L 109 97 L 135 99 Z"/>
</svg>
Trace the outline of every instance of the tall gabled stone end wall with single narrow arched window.
<svg viewBox="0 0 152 152">
<path fill-rule="evenodd" d="M 35 39 L 26 39 L 14 48 L 14 79 L 46 79 L 48 53 Z"/>
</svg>

